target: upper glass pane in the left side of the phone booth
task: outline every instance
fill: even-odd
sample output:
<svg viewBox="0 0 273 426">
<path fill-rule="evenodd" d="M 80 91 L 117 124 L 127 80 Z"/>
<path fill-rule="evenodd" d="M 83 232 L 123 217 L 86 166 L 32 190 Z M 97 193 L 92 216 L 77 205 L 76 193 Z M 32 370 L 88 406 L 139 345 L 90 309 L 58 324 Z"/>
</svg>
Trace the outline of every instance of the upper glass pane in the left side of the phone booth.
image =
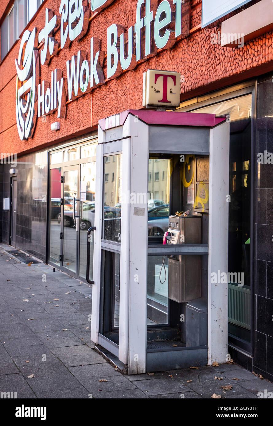
<svg viewBox="0 0 273 426">
<path fill-rule="evenodd" d="M 104 157 L 103 239 L 121 241 L 121 203 L 122 154 L 108 155 Z"/>
</svg>

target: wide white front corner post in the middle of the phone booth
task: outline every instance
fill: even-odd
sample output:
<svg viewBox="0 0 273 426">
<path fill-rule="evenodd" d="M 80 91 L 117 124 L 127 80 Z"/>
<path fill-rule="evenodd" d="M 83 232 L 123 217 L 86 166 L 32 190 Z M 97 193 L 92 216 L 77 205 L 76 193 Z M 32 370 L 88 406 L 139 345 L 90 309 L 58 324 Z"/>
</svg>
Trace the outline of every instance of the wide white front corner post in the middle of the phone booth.
<svg viewBox="0 0 273 426">
<path fill-rule="evenodd" d="M 136 198 L 130 204 L 128 374 L 146 372 L 147 348 L 149 127 L 139 120 L 137 126 L 138 136 L 131 137 L 131 194 Z"/>
</svg>

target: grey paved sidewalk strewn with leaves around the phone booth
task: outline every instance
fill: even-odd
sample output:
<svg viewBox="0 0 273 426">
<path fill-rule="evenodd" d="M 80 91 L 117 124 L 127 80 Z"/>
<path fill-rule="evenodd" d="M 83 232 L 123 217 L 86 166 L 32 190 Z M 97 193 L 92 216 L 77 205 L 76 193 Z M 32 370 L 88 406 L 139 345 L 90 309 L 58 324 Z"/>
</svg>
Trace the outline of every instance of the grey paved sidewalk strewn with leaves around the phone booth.
<svg viewBox="0 0 273 426">
<path fill-rule="evenodd" d="M 0 392 L 17 392 L 17 398 L 238 399 L 273 391 L 273 383 L 235 364 L 121 374 L 90 341 L 92 288 L 27 256 L 23 263 L 8 250 L 14 249 L 0 244 Z"/>
</svg>

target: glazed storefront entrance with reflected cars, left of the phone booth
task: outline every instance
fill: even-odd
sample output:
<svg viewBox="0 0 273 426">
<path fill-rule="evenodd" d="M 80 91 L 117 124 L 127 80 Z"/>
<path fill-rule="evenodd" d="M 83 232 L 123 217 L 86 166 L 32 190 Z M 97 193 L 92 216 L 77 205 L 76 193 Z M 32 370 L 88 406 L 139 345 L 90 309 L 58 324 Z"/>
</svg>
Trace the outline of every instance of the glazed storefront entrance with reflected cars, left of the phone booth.
<svg viewBox="0 0 273 426">
<path fill-rule="evenodd" d="M 95 139 L 95 143 L 64 148 L 49 156 L 48 262 L 82 280 L 87 272 L 87 230 L 94 226 L 96 146 Z M 93 245 L 91 233 L 89 279 L 93 276 Z"/>
</svg>

